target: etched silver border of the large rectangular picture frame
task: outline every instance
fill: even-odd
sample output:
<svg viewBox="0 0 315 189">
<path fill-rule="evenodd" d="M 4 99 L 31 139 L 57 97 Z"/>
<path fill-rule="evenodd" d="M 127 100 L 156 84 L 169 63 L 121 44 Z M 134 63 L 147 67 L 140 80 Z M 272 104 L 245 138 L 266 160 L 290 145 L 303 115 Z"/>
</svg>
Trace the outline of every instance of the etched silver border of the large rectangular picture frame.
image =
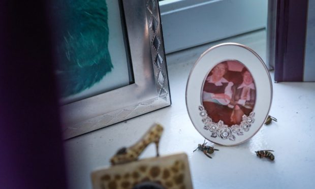
<svg viewBox="0 0 315 189">
<path fill-rule="evenodd" d="M 159 2 L 122 6 L 135 83 L 61 106 L 64 139 L 171 105 Z"/>
</svg>

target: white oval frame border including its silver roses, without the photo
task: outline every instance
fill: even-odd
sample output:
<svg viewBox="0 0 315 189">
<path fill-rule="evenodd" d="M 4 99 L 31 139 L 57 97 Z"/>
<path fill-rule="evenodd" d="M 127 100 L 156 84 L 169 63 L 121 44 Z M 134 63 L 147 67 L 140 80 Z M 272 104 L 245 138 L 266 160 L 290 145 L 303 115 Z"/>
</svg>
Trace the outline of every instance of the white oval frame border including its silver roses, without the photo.
<svg viewBox="0 0 315 189">
<path fill-rule="evenodd" d="M 213 114 L 208 115 L 203 104 L 202 93 L 205 80 L 210 71 L 224 61 L 241 62 L 256 83 L 254 108 L 248 115 L 243 114 L 239 123 L 226 124 L 222 119 L 213 121 Z M 223 86 L 223 84 L 217 83 L 216 86 Z M 264 61 L 254 50 L 241 44 L 223 43 L 207 49 L 198 58 L 188 76 L 186 85 L 188 115 L 195 129 L 204 138 L 215 144 L 235 146 L 248 141 L 265 123 L 271 102 L 272 83 Z M 228 107 L 228 105 L 224 106 Z M 222 111 L 226 111 L 226 109 L 217 110 L 216 113 L 223 114 Z"/>
</svg>

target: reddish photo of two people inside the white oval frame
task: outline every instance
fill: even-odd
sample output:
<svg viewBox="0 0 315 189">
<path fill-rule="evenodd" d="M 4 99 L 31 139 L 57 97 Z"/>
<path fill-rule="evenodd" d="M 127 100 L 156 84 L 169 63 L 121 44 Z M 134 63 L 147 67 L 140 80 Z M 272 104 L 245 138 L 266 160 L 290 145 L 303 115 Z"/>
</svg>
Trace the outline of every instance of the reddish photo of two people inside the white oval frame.
<svg viewBox="0 0 315 189">
<path fill-rule="evenodd" d="M 204 79 L 202 105 L 213 122 L 222 120 L 228 127 L 240 124 L 256 102 L 256 84 L 248 69 L 239 61 L 216 64 Z"/>
</svg>

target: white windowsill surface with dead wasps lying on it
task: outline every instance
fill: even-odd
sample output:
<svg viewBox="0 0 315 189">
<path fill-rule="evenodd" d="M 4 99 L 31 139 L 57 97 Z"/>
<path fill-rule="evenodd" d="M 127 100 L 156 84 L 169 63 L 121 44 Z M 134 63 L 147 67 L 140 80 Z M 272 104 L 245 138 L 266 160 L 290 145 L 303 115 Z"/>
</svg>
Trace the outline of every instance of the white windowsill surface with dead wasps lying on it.
<svg viewBox="0 0 315 189">
<path fill-rule="evenodd" d="M 70 189 L 91 188 L 91 171 L 109 166 L 118 148 L 134 144 L 153 122 L 164 125 L 160 154 L 188 155 L 194 188 L 312 188 L 315 167 L 315 83 L 273 84 L 270 115 L 278 122 L 263 125 L 249 141 L 234 147 L 214 145 L 212 159 L 196 149 L 204 138 L 195 130 L 185 107 L 185 86 L 194 62 L 207 48 L 221 42 L 238 42 L 265 60 L 265 31 L 167 55 L 172 105 L 120 122 L 65 142 Z M 271 72 L 273 79 L 273 72 Z M 213 145 L 208 142 L 208 145 Z M 255 152 L 274 150 L 275 161 L 259 159 Z M 154 145 L 140 158 L 155 155 Z"/>
</svg>

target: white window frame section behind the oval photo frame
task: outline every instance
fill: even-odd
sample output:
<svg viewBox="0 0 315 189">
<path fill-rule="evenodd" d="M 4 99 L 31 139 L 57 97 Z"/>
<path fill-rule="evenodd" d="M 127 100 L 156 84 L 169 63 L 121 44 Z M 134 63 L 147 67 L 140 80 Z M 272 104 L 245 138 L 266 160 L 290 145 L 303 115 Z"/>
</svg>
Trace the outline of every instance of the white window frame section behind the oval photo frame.
<svg viewBox="0 0 315 189">
<path fill-rule="evenodd" d="M 266 27 L 267 0 L 160 2 L 166 53 Z"/>
</svg>

